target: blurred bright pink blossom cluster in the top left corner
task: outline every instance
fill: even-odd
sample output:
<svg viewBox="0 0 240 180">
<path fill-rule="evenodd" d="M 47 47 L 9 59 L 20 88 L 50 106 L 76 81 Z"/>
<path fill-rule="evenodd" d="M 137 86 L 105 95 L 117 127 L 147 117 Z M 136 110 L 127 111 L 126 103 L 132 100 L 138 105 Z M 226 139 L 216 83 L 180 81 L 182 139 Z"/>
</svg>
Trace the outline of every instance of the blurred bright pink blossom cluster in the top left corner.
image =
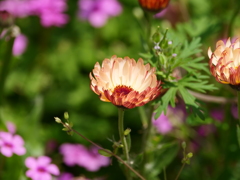
<svg viewBox="0 0 240 180">
<path fill-rule="evenodd" d="M 64 14 L 67 9 L 66 0 L 4 0 L 0 2 L 0 10 L 6 10 L 15 17 L 36 15 L 44 27 L 63 26 L 68 22 Z"/>
</svg>

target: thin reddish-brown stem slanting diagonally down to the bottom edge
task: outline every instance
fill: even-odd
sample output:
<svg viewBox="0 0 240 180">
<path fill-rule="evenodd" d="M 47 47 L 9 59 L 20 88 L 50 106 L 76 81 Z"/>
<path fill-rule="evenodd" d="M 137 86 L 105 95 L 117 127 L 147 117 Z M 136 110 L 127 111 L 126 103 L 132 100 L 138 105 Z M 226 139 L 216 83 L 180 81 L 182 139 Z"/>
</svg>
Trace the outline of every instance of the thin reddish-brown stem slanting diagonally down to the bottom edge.
<svg viewBox="0 0 240 180">
<path fill-rule="evenodd" d="M 139 174 L 136 170 L 134 170 L 129 164 L 127 164 L 124 160 L 122 160 L 119 156 L 117 156 L 116 154 L 112 153 L 111 151 L 104 149 L 103 147 L 99 146 L 98 144 L 96 144 L 95 142 L 91 141 L 90 139 L 88 139 L 87 137 L 83 136 L 81 133 L 79 133 L 78 131 L 72 129 L 69 125 L 66 125 L 65 123 L 62 123 L 62 125 L 66 128 L 68 128 L 70 131 L 75 132 L 77 135 L 79 135 L 80 137 L 82 137 L 83 139 L 85 139 L 86 141 L 90 142 L 92 145 L 96 146 L 97 148 L 101 149 L 102 151 L 110 154 L 111 156 L 115 157 L 116 159 L 118 159 L 121 163 L 123 163 L 128 169 L 130 169 L 134 174 L 136 174 L 141 180 L 146 180 L 141 174 Z"/>
</svg>

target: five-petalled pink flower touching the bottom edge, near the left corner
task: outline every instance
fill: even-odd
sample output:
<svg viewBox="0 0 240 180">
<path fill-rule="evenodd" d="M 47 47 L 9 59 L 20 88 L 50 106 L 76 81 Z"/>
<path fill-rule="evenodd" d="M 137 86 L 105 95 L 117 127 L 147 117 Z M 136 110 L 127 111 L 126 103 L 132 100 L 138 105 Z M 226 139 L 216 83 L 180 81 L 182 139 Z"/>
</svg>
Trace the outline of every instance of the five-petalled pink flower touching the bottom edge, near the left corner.
<svg viewBox="0 0 240 180">
<path fill-rule="evenodd" d="M 25 165 L 29 168 L 26 176 L 32 180 L 51 180 L 52 174 L 59 175 L 59 169 L 55 164 L 50 164 L 51 158 L 40 156 L 38 158 L 28 157 Z"/>
</svg>

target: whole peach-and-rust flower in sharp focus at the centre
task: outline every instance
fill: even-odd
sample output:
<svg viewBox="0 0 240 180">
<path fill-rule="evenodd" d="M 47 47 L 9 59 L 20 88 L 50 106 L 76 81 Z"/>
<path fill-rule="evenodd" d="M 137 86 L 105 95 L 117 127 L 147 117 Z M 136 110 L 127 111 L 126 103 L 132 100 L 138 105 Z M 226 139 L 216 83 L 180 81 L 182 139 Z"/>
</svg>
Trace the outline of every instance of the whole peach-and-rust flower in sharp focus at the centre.
<svg viewBox="0 0 240 180">
<path fill-rule="evenodd" d="M 155 68 L 144 65 L 141 58 L 136 62 L 114 55 L 104 59 L 102 66 L 97 62 L 89 76 L 93 92 L 118 107 L 143 106 L 160 95 L 161 81 L 157 81 Z"/>
</svg>

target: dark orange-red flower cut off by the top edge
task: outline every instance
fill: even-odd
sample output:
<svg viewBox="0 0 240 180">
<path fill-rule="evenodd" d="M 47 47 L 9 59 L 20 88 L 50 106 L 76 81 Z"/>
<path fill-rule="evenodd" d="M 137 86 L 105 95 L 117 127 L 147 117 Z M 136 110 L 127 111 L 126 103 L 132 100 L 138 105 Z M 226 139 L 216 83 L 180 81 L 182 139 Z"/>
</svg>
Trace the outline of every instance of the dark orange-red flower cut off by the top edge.
<svg viewBox="0 0 240 180">
<path fill-rule="evenodd" d="M 149 11 L 160 11 L 167 7 L 169 0 L 138 0 L 142 8 Z"/>
</svg>

